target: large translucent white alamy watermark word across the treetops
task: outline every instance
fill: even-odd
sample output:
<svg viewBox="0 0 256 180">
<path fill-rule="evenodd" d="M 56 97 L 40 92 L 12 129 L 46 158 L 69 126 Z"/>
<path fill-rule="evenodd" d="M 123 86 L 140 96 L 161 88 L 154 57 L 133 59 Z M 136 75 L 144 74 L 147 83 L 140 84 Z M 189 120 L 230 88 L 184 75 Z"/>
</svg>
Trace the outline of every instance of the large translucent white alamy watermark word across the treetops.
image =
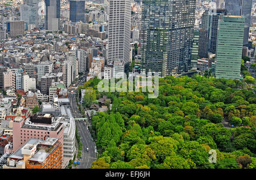
<svg viewBox="0 0 256 180">
<path fill-rule="evenodd" d="M 153 82 L 154 78 L 154 82 Z M 119 79 L 115 83 L 115 79 Z M 127 85 L 128 84 L 128 85 Z M 135 86 L 134 86 L 135 85 Z M 128 86 L 128 88 L 127 88 Z M 148 98 L 157 98 L 159 95 L 159 76 L 158 73 L 154 73 L 154 76 L 145 76 L 144 74 L 139 73 L 129 73 L 127 78 L 125 73 L 115 74 L 115 78 L 110 79 L 110 88 L 109 88 L 109 79 L 102 79 L 98 83 L 99 92 L 148 92 Z M 135 87 L 135 88 L 134 88 Z"/>
</svg>

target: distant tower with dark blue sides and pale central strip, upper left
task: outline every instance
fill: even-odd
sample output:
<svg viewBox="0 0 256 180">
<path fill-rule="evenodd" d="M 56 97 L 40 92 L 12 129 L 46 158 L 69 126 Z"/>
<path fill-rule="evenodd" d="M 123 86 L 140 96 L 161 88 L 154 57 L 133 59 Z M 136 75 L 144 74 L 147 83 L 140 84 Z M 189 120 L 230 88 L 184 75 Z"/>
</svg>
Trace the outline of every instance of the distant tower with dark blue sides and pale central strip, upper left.
<svg viewBox="0 0 256 180">
<path fill-rule="evenodd" d="M 46 3 L 46 30 L 60 29 L 60 0 L 44 0 Z"/>
</svg>

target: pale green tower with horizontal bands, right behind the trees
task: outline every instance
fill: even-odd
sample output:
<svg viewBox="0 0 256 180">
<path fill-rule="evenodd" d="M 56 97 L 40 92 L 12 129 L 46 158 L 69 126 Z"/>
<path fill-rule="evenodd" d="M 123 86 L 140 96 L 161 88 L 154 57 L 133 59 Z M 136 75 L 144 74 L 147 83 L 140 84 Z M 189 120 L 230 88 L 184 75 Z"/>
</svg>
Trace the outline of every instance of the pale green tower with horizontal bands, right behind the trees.
<svg viewBox="0 0 256 180">
<path fill-rule="evenodd" d="M 224 16 L 219 22 L 216 78 L 240 79 L 245 17 Z"/>
</svg>

